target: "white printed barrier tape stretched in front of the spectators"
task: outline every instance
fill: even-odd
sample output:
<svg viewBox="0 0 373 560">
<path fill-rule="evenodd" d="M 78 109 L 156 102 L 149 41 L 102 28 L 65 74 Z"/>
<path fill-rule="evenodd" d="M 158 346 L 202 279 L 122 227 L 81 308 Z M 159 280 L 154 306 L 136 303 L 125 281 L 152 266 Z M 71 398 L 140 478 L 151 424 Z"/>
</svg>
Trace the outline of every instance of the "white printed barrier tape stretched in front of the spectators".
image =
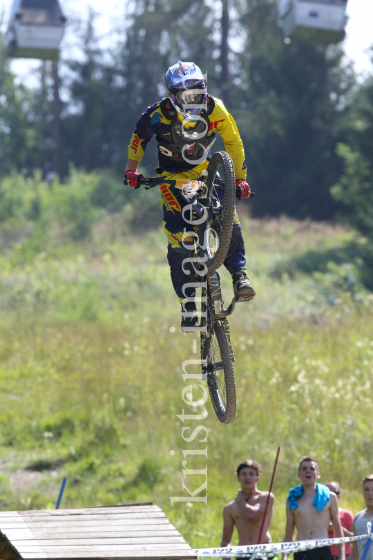
<svg viewBox="0 0 373 560">
<path fill-rule="evenodd" d="M 227 546 L 223 548 L 196 548 L 194 554 L 199 558 L 233 558 L 251 556 L 258 558 L 287 554 L 289 552 L 302 552 L 321 546 L 332 546 L 341 543 L 352 543 L 363 539 L 373 539 L 373 533 L 358 536 L 341 536 L 338 539 L 315 539 L 312 541 L 292 541 L 291 543 L 266 543 L 261 545 Z"/>
</svg>

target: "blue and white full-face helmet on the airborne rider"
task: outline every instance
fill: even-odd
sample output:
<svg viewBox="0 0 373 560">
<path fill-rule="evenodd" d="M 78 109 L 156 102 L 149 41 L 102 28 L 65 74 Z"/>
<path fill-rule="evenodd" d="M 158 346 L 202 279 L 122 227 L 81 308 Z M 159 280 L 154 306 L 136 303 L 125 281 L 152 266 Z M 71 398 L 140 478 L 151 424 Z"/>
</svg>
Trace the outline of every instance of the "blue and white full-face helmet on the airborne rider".
<svg viewBox="0 0 373 560">
<path fill-rule="evenodd" d="M 194 62 L 179 60 L 166 72 L 166 88 L 180 113 L 200 115 L 206 109 L 207 94 L 204 75 Z"/>
</svg>

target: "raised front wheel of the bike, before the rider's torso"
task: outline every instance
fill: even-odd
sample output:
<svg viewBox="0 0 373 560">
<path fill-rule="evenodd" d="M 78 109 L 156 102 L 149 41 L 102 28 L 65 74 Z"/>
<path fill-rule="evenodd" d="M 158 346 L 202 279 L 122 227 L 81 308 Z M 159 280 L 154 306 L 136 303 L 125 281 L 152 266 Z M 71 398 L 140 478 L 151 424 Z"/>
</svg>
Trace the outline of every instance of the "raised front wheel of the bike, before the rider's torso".
<svg viewBox="0 0 373 560">
<path fill-rule="evenodd" d="M 233 161 L 226 151 L 213 154 L 207 168 L 207 205 L 211 215 L 207 236 L 206 265 L 209 270 L 219 268 L 227 256 L 233 227 L 236 181 Z M 213 209 L 216 208 L 216 212 Z"/>
</svg>

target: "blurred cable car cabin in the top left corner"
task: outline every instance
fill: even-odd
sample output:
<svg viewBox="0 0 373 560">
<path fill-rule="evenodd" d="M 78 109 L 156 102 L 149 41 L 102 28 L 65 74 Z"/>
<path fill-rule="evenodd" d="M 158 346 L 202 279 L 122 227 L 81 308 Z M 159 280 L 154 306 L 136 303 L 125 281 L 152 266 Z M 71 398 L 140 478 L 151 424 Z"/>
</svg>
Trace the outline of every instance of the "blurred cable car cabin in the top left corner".
<svg viewBox="0 0 373 560">
<path fill-rule="evenodd" d="M 66 18 L 58 0 L 15 0 L 5 47 L 10 57 L 55 59 Z"/>
</svg>

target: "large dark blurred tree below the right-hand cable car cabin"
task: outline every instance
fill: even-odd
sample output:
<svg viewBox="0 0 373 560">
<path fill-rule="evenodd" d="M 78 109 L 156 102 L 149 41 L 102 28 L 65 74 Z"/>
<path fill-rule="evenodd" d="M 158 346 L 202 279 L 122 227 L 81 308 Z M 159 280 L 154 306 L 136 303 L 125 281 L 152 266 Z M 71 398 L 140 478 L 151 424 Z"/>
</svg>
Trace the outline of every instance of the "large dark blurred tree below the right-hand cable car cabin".
<svg viewBox="0 0 373 560">
<path fill-rule="evenodd" d="M 329 188 L 341 174 L 336 156 L 354 75 L 338 46 L 285 44 L 277 6 L 249 0 L 239 7 L 247 30 L 234 91 L 256 215 L 331 218 Z"/>
</svg>

